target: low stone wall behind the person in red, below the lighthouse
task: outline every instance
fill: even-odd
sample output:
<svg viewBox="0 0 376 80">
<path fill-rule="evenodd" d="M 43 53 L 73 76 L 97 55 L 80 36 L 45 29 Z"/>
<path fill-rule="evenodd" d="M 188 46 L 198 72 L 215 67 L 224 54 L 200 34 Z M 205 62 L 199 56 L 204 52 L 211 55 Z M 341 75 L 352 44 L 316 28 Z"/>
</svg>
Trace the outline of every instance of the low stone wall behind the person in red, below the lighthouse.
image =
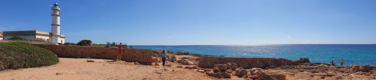
<svg viewBox="0 0 376 80">
<path fill-rule="evenodd" d="M 99 59 L 115 60 L 118 56 L 118 48 L 105 48 L 105 47 L 91 47 L 91 46 L 75 46 L 75 45 L 44 45 L 32 44 L 52 51 L 58 57 L 91 57 Z M 138 48 L 123 48 L 124 52 L 121 60 L 153 63 L 158 62 L 158 57 L 153 57 L 155 53 L 150 49 Z"/>
</svg>

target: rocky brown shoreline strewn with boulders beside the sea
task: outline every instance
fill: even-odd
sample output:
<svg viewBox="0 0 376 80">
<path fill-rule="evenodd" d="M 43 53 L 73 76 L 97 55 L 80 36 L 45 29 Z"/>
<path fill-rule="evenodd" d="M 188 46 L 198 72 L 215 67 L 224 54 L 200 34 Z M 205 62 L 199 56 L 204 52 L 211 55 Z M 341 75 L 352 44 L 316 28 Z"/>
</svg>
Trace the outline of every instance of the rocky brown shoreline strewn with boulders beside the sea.
<svg viewBox="0 0 376 80">
<path fill-rule="evenodd" d="M 154 51 L 153 51 L 154 52 Z M 158 54 L 159 51 L 156 51 Z M 265 61 L 247 60 L 251 64 L 245 62 L 237 62 L 239 57 L 220 57 L 223 61 L 217 61 L 217 59 L 207 59 L 205 55 L 190 54 L 189 52 L 170 52 L 167 53 L 167 59 L 170 62 L 179 63 L 182 65 L 195 65 L 192 67 L 186 67 L 186 69 L 197 69 L 198 72 L 205 73 L 208 76 L 215 78 L 232 78 L 233 76 L 241 77 L 247 80 L 287 80 L 287 78 L 305 79 L 305 80 L 346 80 L 354 78 L 362 78 L 365 80 L 376 79 L 376 66 L 370 65 L 352 65 L 349 66 L 333 66 L 327 63 L 310 63 L 308 59 L 300 60 L 285 60 L 276 58 L 260 58 L 266 59 Z M 180 57 L 178 55 L 191 55 L 193 57 Z M 218 56 L 211 56 L 218 57 Z M 226 58 L 226 59 L 225 59 Z M 274 61 L 274 59 L 276 61 Z M 214 61 L 214 62 L 212 62 Z M 234 61 L 234 62 L 231 62 Z M 261 61 L 261 62 L 260 62 Z M 214 64 L 213 64 L 214 63 Z M 238 64 L 237 64 L 238 63 Z M 240 64 L 239 64 L 240 63 Z M 252 64 L 256 63 L 256 64 Z M 266 64 L 262 64 L 266 63 Z M 212 66 L 206 68 L 200 64 Z M 245 65 L 244 65 L 245 64 Z M 246 65 L 253 65 L 247 67 Z M 258 67 L 254 67 L 261 65 Z M 241 66 L 246 66 L 244 69 Z M 360 80 L 362 80 L 360 79 Z M 357 79 L 355 79 L 357 80 Z"/>
</svg>

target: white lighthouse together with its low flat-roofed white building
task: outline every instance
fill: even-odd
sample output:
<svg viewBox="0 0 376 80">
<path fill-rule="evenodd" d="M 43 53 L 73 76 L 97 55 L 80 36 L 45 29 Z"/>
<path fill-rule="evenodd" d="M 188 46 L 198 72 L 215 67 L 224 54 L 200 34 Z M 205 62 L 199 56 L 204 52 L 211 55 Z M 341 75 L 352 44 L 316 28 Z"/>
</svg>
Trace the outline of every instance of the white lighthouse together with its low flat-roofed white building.
<svg viewBox="0 0 376 80">
<path fill-rule="evenodd" d="M 51 10 L 51 33 L 38 30 L 4 31 L 2 35 L 0 34 L 0 40 L 7 40 L 14 36 L 19 36 L 30 40 L 39 39 L 53 43 L 65 43 L 65 35 L 60 33 L 60 8 L 57 2 L 51 6 Z"/>
</svg>

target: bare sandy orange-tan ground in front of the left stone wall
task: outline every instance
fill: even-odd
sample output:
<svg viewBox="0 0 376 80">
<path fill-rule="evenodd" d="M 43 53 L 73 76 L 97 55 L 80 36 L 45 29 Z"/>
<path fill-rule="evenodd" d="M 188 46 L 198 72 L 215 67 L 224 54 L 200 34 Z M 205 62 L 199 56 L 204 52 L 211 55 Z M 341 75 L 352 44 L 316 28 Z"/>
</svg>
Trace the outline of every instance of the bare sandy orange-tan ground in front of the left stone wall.
<svg viewBox="0 0 376 80">
<path fill-rule="evenodd" d="M 59 58 L 60 62 L 37 68 L 5 70 L 0 72 L 0 80 L 216 80 L 195 69 L 162 67 L 153 65 L 134 65 L 129 62 L 112 60 Z M 162 65 L 161 63 L 159 63 Z M 182 65 L 185 67 L 186 65 Z M 167 69 L 167 71 L 164 70 Z M 174 71 L 172 71 L 174 70 Z M 61 75 L 56 73 L 61 72 Z M 157 72 L 161 72 L 158 74 Z M 244 80 L 244 78 L 230 80 Z"/>
</svg>

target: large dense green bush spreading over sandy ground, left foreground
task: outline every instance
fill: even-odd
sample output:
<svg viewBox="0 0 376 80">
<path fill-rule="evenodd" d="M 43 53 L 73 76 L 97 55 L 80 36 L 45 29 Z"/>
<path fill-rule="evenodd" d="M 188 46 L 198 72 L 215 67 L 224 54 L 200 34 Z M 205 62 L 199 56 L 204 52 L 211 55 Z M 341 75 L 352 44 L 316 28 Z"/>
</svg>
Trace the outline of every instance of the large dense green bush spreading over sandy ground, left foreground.
<svg viewBox="0 0 376 80">
<path fill-rule="evenodd" d="M 26 42 L 0 42 L 0 70 L 49 66 L 59 62 L 52 51 Z"/>
</svg>

